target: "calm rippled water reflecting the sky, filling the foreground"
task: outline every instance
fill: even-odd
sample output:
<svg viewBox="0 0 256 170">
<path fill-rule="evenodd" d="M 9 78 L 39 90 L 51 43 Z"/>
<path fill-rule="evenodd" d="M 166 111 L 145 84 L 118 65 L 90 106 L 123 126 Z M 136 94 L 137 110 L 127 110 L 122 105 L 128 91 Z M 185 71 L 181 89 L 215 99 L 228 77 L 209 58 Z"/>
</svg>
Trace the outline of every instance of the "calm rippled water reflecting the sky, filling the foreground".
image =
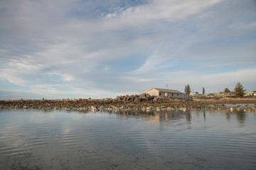
<svg viewBox="0 0 256 170">
<path fill-rule="evenodd" d="M 256 169 L 256 114 L 0 110 L 0 169 Z"/>
</svg>

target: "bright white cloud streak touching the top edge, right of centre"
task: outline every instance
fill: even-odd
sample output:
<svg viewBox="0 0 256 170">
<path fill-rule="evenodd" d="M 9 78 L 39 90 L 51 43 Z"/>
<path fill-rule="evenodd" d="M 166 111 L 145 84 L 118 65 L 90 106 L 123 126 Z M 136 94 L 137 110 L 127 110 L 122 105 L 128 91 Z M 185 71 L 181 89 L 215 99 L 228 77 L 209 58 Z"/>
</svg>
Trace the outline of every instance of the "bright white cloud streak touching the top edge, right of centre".
<svg viewBox="0 0 256 170">
<path fill-rule="evenodd" d="M 155 0 L 151 4 L 142 6 L 132 6 L 126 10 L 117 10 L 114 13 L 108 13 L 107 18 L 120 16 L 125 19 L 125 23 L 135 22 L 147 23 L 149 21 L 165 19 L 167 21 L 176 21 L 177 19 L 186 18 L 199 11 L 220 3 L 223 0 L 210 1 L 166 1 Z M 118 13 L 118 15 L 117 15 Z"/>
</svg>

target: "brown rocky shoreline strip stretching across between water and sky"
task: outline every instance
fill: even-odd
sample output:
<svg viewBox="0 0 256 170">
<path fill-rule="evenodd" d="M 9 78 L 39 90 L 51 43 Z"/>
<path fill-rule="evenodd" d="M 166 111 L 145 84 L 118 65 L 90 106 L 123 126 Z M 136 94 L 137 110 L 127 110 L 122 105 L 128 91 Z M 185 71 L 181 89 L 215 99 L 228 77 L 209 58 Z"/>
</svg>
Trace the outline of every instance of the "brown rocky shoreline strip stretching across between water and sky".
<svg viewBox="0 0 256 170">
<path fill-rule="evenodd" d="M 0 101 L 2 109 L 43 109 L 66 111 L 186 111 L 220 110 L 256 111 L 256 98 L 221 98 L 180 100 L 148 94 L 117 96 L 114 99 L 62 99 L 62 100 L 16 100 Z"/>
</svg>

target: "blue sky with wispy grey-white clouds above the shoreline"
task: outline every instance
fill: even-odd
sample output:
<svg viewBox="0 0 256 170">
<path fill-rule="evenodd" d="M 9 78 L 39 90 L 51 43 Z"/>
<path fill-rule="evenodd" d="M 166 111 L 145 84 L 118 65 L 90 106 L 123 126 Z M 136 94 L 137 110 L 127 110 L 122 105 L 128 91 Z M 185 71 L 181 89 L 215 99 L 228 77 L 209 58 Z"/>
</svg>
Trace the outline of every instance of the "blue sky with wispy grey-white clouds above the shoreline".
<svg viewBox="0 0 256 170">
<path fill-rule="evenodd" d="M 0 100 L 256 90 L 255 0 L 1 0 Z"/>
</svg>

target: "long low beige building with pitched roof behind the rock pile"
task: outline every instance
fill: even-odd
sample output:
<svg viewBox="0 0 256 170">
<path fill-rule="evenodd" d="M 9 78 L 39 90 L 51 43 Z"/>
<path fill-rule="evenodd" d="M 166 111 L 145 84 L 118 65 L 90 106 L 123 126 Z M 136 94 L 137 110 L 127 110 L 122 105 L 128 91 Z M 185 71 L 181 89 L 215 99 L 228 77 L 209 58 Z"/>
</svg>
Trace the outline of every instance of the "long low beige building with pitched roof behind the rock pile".
<svg viewBox="0 0 256 170">
<path fill-rule="evenodd" d="M 181 93 L 181 91 L 171 90 L 171 89 L 150 89 L 149 91 L 145 91 L 144 94 L 149 94 L 150 96 L 169 96 L 172 98 L 182 98 L 188 99 L 187 94 Z"/>
</svg>

